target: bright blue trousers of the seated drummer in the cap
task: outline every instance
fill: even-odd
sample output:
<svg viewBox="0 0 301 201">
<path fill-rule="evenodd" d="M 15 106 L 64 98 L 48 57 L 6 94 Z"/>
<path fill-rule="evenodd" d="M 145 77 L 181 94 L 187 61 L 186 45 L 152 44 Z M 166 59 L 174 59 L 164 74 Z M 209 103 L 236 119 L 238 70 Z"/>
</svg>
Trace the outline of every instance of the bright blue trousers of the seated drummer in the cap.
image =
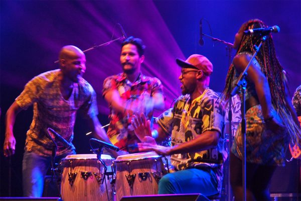
<svg viewBox="0 0 301 201">
<path fill-rule="evenodd" d="M 202 193 L 209 196 L 219 193 L 217 178 L 212 169 L 185 169 L 169 173 L 159 181 L 159 194 Z"/>
</svg>

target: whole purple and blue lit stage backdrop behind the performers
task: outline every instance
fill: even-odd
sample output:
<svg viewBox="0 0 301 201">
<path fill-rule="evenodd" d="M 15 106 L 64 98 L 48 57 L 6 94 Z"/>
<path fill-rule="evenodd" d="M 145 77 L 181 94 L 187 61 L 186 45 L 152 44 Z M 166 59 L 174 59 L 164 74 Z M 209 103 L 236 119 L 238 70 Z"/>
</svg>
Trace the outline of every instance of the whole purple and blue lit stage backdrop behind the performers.
<svg viewBox="0 0 301 201">
<path fill-rule="evenodd" d="M 4 117 L 24 85 L 34 76 L 55 68 L 64 45 L 82 50 L 121 36 L 120 23 L 127 36 L 141 38 L 146 45 L 142 72 L 163 82 L 166 109 L 180 94 L 180 68 L 175 58 L 191 54 L 208 57 L 214 72 L 210 87 L 221 91 L 228 70 L 223 44 L 204 38 L 199 42 L 199 21 L 210 23 L 212 35 L 233 43 L 240 25 L 253 18 L 267 25 L 278 25 L 273 39 L 278 59 L 289 76 L 291 95 L 301 84 L 301 2 L 300 1 L 0 1 L 1 13 L 1 166 L 0 196 L 9 196 L 9 160 L 3 156 Z M 203 32 L 210 35 L 203 20 Z M 112 33 L 114 33 L 112 37 Z M 101 96 L 105 77 L 121 72 L 121 41 L 86 53 L 88 80 L 97 93 L 99 119 L 108 123 L 108 108 Z M 232 54 L 235 54 L 232 51 Z M 157 115 L 161 111 L 157 112 Z M 21 166 L 25 133 L 32 119 L 32 108 L 20 113 L 15 126 L 16 155 L 12 157 L 11 196 L 22 196 Z M 74 144 L 77 153 L 88 153 L 88 132 L 77 119 Z"/>
</svg>

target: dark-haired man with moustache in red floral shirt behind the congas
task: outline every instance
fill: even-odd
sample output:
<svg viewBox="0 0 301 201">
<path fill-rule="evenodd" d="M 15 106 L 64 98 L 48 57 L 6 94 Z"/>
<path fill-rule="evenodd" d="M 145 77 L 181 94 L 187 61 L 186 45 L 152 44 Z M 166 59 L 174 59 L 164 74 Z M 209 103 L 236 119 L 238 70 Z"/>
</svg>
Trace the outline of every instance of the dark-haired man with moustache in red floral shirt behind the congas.
<svg viewBox="0 0 301 201">
<path fill-rule="evenodd" d="M 110 107 L 107 136 L 120 148 L 119 155 L 134 152 L 130 147 L 139 142 L 130 124 L 132 115 L 144 113 L 151 119 L 154 109 L 164 109 L 161 81 L 141 73 L 144 49 L 141 39 L 125 39 L 120 53 L 123 72 L 107 77 L 103 83 L 102 95 Z"/>
</svg>

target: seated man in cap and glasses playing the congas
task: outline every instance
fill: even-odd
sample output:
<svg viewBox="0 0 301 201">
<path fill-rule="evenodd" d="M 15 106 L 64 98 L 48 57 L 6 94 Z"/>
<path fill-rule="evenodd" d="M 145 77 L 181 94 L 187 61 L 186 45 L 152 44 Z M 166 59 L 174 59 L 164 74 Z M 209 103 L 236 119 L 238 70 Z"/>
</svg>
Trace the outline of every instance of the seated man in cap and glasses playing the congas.
<svg viewBox="0 0 301 201">
<path fill-rule="evenodd" d="M 198 54 L 191 55 L 186 61 L 176 61 L 182 68 L 179 79 L 183 95 L 173 108 L 158 118 L 159 137 L 171 133 L 172 147 L 156 145 L 150 137 L 149 122 L 141 114 L 133 119 L 135 133 L 143 142 L 138 148 L 139 151 L 171 155 L 171 163 L 177 171 L 161 178 L 159 194 L 215 195 L 222 187 L 225 112 L 218 103 L 218 94 L 209 88 L 213 66 L 206 57 Z"/>
</svg>

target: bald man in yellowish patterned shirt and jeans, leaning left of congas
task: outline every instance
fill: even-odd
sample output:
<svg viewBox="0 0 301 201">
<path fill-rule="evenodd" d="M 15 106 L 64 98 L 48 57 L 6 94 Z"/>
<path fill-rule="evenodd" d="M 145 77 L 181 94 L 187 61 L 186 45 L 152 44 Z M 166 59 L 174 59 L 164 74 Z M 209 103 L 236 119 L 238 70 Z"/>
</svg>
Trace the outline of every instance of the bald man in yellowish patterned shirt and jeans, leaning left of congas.
<svg viewBox="0 0 301 201">
<path fill-rule="evenodd" d="M 59 54 L 60 69 L 42 73 L 30 80 L 6 114 L 5 156 L 15 153 L 16 139 L 13 128 L 17 115 L 34 106 L 34 116 L 27 131 L 23 157 L 24 196 L 40 197 L 44 176 L 51 165 L 52 142 L 47 131 L 53 129 L 66 139 L 71 147 L 57 143 L 57 159 L 75 154 L 73 127 L 77 111 L 87 119 L 94 137 L 109 141 L 98 121 L 96 93 L 82 78 L 86 70 L 86 57 L 75 46 L 65 46 Z"/>
</svg>

